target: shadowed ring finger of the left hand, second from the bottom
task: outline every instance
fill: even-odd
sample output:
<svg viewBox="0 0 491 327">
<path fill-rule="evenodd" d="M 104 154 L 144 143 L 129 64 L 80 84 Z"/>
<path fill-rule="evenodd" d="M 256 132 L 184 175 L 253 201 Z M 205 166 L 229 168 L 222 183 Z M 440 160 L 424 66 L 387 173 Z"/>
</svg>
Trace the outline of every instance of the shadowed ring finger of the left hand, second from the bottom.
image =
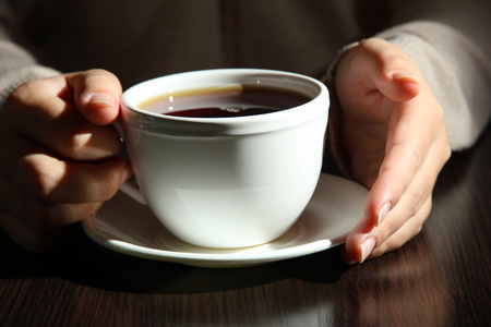
<svg viewBox="0 0 491 327">
<path fill-rule="evenodd" d="M 0 210 L 11 214 L 39 231 L 61 228 L 82 221 L 95 214 L 103 203 L 51 204 L 43 203 L 0 175 Z"/>
</svg>

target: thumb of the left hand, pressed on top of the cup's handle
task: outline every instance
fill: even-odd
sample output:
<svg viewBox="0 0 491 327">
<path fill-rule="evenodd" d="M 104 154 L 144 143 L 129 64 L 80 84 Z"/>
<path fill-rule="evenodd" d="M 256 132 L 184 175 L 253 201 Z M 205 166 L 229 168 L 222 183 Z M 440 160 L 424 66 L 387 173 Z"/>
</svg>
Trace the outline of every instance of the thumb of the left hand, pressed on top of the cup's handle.
<svg viewBox="0 0 491 327">
<path fill-rule="evenodd" d="M 119 114 L 119 98 L 122 93 L 119 80 L 104 70 L 92 70 L 84 74 L 68 75 L 74 90 L 80 113 L 96 125 L 107 125 Z"/>
</svg>

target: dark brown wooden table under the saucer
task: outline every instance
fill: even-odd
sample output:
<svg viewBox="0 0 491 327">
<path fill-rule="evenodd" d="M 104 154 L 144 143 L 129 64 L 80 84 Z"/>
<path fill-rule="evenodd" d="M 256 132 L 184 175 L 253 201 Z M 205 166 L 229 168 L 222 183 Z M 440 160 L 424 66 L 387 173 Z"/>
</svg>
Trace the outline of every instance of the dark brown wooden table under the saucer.
<svg viewBox="0 0 491 327">
<path fill-rule="evenodd" d="M 455 154 L 422 232 L 345 265 L 339 250 L 206 269 L 103 249 L 35 255 L 0 233 L 0 326 L 490 326 L 491 130 Z"/>
</svg>

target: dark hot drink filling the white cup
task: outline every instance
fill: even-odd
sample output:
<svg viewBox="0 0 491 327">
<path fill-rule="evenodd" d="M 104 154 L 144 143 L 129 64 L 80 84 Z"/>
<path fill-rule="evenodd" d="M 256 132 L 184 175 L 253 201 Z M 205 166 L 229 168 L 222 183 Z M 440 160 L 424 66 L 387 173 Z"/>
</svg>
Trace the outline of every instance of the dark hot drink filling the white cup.
<svg viewBox="0 0 491 327">
<path fill-rule="evenodd" d="M 139 107 L 166 116 L 230 118 L 290 109 L 310 100 L 304 94 L 284 88 L 231 85 L 165 94 Z"/>
</svg>

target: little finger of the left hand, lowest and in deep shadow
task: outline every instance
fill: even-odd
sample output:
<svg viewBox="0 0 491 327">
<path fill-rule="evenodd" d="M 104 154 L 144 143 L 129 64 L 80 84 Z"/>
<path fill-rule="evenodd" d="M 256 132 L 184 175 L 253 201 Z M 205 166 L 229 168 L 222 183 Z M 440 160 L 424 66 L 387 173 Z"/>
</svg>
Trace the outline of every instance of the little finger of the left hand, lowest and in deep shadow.
<svg viewBox="0 0 491 327">
<path fill-rule="evenodd" d="M 39 231 L 15 219 L 11 214 L 0 211 L 0 228 L 20 247 L 31 252 L 46 252 L 67 241 L 74 226 L 62 229 Z"/>
</svg>

